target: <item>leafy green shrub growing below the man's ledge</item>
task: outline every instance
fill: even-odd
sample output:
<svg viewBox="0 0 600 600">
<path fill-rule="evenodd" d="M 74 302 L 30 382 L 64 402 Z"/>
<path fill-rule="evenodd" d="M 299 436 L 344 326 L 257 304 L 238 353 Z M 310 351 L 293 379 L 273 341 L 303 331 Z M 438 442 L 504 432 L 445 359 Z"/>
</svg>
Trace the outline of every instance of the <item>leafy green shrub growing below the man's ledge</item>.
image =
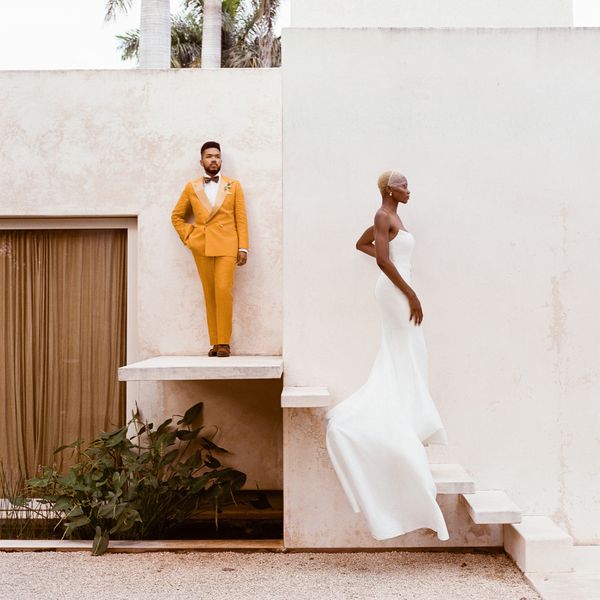
<svg viewBox="0 0 600 600">
<path fill-rule="evenodd" d="M 86 447 L 77 440 L 57 448 L 76 452 L 77 464 L 66 475 L 43 467 L 29 489 L 61 516 L 64 536 L 93 536 L 94 555 L 106 552 L 111 536 L 159 538 L 199 510 L 214 510 L 218 526 L 219 506 L 235 501 L 246 475 L 221 465 L 214 454 L 227 450 L 201 435 L 204 426 L 192 429 L 201 412 L 199 402 L 176 424 L 181 415 L 154 428 L 136 410 L 127 425 Z"/>
</svg>

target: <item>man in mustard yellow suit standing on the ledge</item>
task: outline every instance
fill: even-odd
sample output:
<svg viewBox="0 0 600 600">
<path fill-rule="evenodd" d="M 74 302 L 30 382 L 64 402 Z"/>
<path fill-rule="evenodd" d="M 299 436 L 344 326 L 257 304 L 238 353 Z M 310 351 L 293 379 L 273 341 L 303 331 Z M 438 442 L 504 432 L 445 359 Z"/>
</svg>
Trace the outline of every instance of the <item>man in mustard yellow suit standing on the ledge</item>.
<svg viewBox="0 0 600 600">
<path fill-rule="evenodd" d="M 206 142 L 200 150 L 205 177 L 189 181 L 173 209 L 171 222 L 192 251 L 202 281 L 209 356 L 230 356 L 233 275 L 248 257 L 248 221 L 239 181 L 220 174 L 221 147 Z M 189 212 L 194 222 L 186 220 Z"/>
</svg>

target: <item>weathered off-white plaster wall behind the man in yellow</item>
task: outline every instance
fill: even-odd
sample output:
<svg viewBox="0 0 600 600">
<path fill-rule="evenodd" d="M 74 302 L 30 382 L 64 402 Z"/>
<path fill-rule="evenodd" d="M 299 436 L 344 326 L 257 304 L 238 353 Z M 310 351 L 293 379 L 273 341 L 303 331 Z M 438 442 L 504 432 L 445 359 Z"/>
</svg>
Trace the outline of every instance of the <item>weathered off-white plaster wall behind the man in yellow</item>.
<svg viewBox="0 0 600 600">
<path fill-rule="evenodd" d="M 246 192 L 248 264 L 235 283 L 233 350 L 280 354 L 279 70 L 0 73 L 0 215 L 134 215 L 139 358 L 208 347 L 202 290 L 170 213 L 199 148 L 218 139 Z M 131 274 L 134 276 L 134 274 Z M 135 384 L 134 384 L 135 385 Z M 156 420 L 206 402 L 205 422 L 237 452 L 250 485 L 280 488 L 281 382 L 143 384 Z"/>
</svg>

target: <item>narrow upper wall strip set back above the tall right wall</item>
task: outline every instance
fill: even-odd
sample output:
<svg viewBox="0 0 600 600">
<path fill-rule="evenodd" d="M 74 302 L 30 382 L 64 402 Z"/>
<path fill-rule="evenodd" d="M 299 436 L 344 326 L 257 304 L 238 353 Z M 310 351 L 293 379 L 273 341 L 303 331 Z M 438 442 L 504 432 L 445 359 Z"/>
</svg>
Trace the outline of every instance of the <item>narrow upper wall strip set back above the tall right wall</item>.
<svg viewBox="0 0 600 600">
<path fill-rule="evenodd" d="M 292 0 L 293 27 L 568 27 L 571 0 Z"/>
</svg>

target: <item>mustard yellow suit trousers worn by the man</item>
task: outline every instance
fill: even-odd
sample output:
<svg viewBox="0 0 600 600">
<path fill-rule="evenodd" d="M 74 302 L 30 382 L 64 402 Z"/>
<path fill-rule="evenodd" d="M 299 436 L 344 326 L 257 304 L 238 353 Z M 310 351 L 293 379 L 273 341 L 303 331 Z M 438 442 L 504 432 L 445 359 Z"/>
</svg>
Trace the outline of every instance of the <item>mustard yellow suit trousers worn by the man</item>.
<svg viewBox="0 0 600 600">
<path fill-rule="evenodd" d="M 202 281 L 211 345 L 229 344 L 233 318 L 233 276 L 237 258 L 194 254 Z"/>
</svg>

